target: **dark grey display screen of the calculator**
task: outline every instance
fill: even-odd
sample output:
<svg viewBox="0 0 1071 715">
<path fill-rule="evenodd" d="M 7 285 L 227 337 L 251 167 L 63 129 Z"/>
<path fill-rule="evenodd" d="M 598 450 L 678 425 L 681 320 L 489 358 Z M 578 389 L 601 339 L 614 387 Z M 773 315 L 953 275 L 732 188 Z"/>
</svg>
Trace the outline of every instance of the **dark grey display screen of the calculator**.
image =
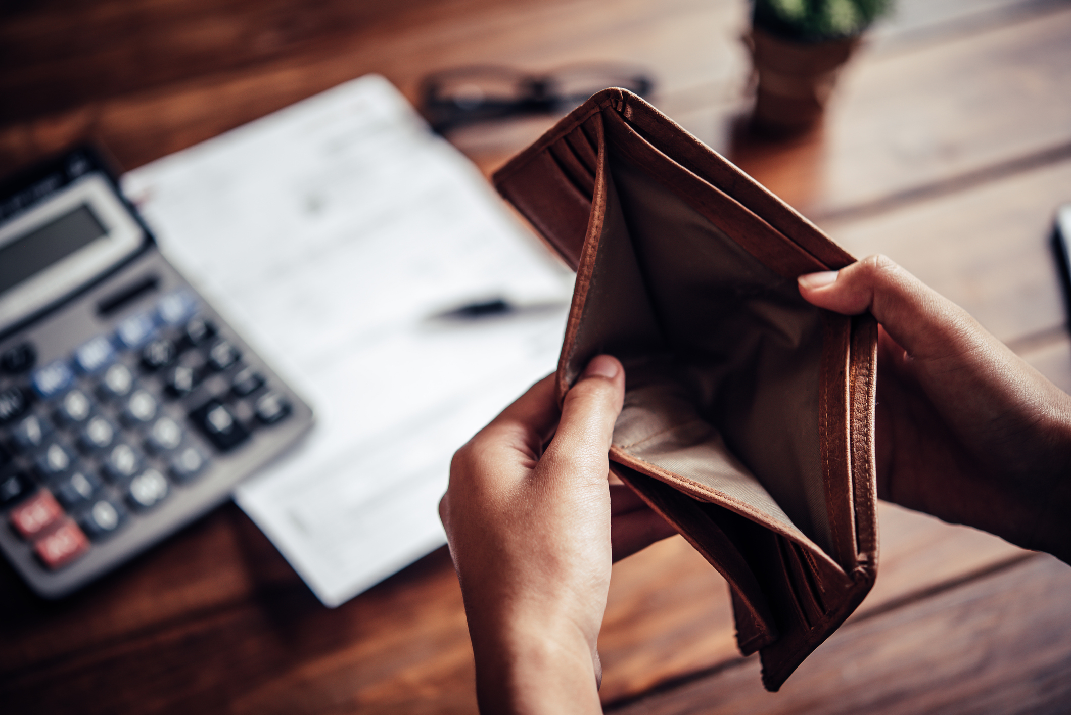
<svg viewBox="0 0 1071 715">
<path fill-rule="evenodd" d="M 0 293 L 105 234 L 107 230 L 82 203 L 0 246 Z"/>
</svg>

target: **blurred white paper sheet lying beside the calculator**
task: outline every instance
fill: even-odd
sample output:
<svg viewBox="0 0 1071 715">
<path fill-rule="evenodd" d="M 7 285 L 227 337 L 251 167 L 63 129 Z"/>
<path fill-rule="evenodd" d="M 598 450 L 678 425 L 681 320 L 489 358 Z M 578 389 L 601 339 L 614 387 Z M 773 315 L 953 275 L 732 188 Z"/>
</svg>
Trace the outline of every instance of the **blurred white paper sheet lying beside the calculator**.
<svg viewBox="0 0 1071 715">
<path fill-rule="evenodd" d="M 555 368 L 572 292 L 480 172 L 369 75 L 132 171 L 123 189 L 313 406 L 307 440 L 235 498 L 320 600 L 443 544 L 453 452 Z M 497 298 L 529 309 L 434 317 Z"/>
</svg>

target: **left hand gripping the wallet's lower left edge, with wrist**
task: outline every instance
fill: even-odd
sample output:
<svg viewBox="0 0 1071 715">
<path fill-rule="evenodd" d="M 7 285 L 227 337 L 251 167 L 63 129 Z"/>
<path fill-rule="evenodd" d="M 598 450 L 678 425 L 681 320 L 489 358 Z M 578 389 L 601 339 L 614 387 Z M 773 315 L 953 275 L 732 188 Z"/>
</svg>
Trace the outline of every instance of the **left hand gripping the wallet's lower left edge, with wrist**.
<svg viewBox="0 0 1071 715">
<path fill-rule="evenodd" d="M 595 641 L 612 561 L 676 533 L 607 480 L 621 364 L 594 358 L 560 421 L 553 378 L 457 451 L 439 504 L 484 712 L 602 712 Z"/>
</svg>

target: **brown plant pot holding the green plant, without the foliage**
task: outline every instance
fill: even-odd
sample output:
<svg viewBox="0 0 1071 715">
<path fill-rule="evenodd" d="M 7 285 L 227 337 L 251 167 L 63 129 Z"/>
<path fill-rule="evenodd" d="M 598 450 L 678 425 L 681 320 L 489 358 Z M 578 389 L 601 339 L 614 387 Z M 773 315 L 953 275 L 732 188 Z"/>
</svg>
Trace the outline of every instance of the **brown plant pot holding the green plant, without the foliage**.
<svg viewBox="0 0 1071 715">
<path fill-rule="evenodd" d="M 744 41 L 758 75 L 752 123 L 775 135 L 804 132 L 821 118 L 841 67 L 859 44 L 858 36 L 796 43 L 758 28 Z"/>
</svg>

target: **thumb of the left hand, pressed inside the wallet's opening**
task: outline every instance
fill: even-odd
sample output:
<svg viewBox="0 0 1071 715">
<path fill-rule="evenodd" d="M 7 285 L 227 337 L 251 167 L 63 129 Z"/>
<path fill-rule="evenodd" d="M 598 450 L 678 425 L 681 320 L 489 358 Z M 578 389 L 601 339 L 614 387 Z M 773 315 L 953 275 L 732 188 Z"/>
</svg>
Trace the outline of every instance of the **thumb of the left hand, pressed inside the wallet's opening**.
<svg viewBox="0 0 1071 715">
<path fill-rule="evenodd" d="M 597 355 L 565 394 L 561 421 L 544 460 L 556 471 L 586 472 L 605 481 L 614 423 L 624 401 L 624 367 L 610 355 Z"/>
</svg>

